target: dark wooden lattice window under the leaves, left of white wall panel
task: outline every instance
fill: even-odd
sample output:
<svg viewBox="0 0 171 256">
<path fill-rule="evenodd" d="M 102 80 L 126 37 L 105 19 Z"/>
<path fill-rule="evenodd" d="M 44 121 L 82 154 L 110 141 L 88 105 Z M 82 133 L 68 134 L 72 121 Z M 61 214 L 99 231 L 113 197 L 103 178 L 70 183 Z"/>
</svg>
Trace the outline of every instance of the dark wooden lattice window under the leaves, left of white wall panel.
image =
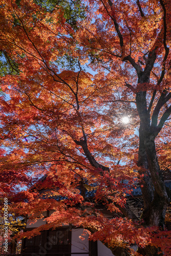
<svg viewBox="0 0 171 256">
<path fill-rule="evenodd" d="M 24 240 L 23 253 L 29 256 L 55 256 L 54 253 L 66 252 L 71 252 L 71 231 L 68 228 L 44 230 L 40 235 Z"/>
</svg>

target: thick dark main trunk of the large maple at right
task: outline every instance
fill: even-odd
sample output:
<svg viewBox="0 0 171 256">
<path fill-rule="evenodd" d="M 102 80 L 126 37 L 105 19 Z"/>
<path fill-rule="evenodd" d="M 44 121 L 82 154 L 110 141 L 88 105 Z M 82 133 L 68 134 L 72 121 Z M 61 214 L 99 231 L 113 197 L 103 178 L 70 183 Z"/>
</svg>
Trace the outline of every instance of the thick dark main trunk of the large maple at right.
<svg viewBox="0 0 171 256">
<path fill-rule="evenodd" d="M 150 125 L 150 116 L 146 106 L 146 95 L 138 92 L 136 95 L 137 110 L 140 116 L 139 156 L 141 187 L 144 210 L 141 218 L 146 226 L 164 228 L 166 208 L 169 203 L 166 187 L 162 178 L 155 147 L 155 133 Z M 143 174 L 143 175 L 142 175 Z M 160 248 L 146 246 L 137 250 L 142 255 L 157 256 Z M 162 254 L 161 254 L 162 255 Z"/>
</svg>

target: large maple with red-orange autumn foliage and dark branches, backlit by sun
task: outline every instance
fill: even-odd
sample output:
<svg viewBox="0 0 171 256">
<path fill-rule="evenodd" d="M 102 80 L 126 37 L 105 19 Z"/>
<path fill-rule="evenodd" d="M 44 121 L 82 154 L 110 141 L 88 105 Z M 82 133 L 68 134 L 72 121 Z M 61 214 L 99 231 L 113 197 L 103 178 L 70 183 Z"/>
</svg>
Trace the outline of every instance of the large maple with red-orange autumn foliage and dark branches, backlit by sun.
<svg viewBox="0 0 171 256">
<path fill-rule="evenodd" d="M 170 254 L 169 4 L 1 0 L 1 197 L 33 219 L 55 210 L 20 237 L 72 223 L 116 256 Z M 141 220 L 127 204 L 137 182 Z"/>
</svg>

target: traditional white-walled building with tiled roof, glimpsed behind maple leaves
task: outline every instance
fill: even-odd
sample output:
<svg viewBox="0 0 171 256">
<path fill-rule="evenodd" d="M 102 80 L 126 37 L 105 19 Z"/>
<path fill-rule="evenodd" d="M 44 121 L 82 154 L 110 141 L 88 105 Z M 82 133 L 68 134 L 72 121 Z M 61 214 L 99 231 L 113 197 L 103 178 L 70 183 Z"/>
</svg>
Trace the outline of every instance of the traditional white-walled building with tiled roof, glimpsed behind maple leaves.
<svg viewBox="0 0 171 256">
<path fill-rule="evenodd" d="M 167 173 L 164 177 L 165 184 L 171 189 L 171 175 Z M 47 195 L 48 190 L 41 190 L 41 197 Z M 93 200 L 95 190 L 86 191 L 86 198 Z M 56 197 L 56 200 L 65 198 Z M 131 209 L 137 217 L 141 216 L 143 209 L 143 200 L 141 189 L 137 185 L 133 188 L 132 196 L 127 197 L 127 202 L 130 204 Z M 101 210 L 106 218 L 115 218 L 112 212 L 104 209 Z M 25 218 L 26 227 L 24 231 L 32 230 L 43 224 L 46 224 L 46 218 L 51 216 L 53 210 L 42 212 L 44 218 L 37 220 L 35 223 L 30 223 L 29 216 Z M 167 223 L 167 228 L 170 229 L 170 223 Z M 100 241 L 89 241 L 88 234 L 81 240 L 80 236 L 83 233 L 83 228 L 74 227 L 72 225 L 63 225 L 55 230 L 44 230 L 41 234 L 31 239 L 25 238 L 22 242 L 20 255 L 22 256 L 113 256 L 111 250 L 103 245 Z M 14 246 L 13 246 L 14 247 Z M 16 246 L 15 246 L 16 247 Z M 136 249 L 136 246 L 135 246 Z M 13 248 L 10 253 L 15 253 L 16 249 Z M 2 254 L 3 255 L 3 254 Z M 13 254 L 15 255 L 15 254 Z"/>
</svg>

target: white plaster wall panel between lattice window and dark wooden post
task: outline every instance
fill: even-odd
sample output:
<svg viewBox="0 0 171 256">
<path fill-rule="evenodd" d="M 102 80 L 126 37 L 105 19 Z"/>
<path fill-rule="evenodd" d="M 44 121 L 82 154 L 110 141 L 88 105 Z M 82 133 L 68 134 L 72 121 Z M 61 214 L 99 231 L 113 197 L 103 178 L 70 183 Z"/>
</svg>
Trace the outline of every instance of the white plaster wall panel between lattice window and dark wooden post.
<svg viewBox="0 0 171 256">
<path fill-rule="evenodd" d="M 79 236 L 83 233 L 83 228 L 73 228 L 71 237 L 71 256 L 89 256 L 89 236 L 84 236 L 81 240 Z M 72 254 L 72 252 L 87 252 L 87 254 Z M 103 255 L 104 256 L 104 255 Z"/>
</svg>

